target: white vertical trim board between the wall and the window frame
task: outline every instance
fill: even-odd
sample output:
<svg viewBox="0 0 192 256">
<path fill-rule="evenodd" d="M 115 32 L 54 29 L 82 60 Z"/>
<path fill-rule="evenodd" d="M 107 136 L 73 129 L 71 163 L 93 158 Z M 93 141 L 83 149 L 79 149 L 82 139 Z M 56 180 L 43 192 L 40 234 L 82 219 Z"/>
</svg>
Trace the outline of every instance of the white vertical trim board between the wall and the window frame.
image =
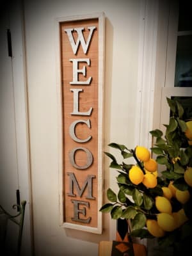
<svg viewBox="0 0 192 256">
<path fill-rule="evenodd" d="M 158 1 L 147 0 L 141 4 L 135 145 L 148 148 L 152 144 L 149 131 L 153 122 L 158 11 Z"/>
</svg>

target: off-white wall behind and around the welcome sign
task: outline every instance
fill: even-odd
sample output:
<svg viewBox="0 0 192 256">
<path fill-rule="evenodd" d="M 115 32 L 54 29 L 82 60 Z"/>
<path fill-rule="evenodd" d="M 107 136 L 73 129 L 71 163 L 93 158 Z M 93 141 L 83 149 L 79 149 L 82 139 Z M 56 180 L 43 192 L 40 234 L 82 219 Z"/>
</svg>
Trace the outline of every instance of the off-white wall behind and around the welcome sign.
<svg viewBox="0 0 192 256">
<path fill-rule="evenodd" d="M 145 1 L 24 1 L 29 137 L 35 255 L 93 255 L 100 240 L 115 239 L 115 221 L 104 216 L 102 235 L 59 226 L 58 109 L 55 19 L 106 14 L 104 145 L 135 147 L 141 7 Z M 137 115 L 138 118 L 138 115 Z M 112 150 L 113 152 L 113 150 Z M 105 189 L 116 188 L 105 158 Z M 110 175 L 109 175 L 110 173 Z"/>
</svg>

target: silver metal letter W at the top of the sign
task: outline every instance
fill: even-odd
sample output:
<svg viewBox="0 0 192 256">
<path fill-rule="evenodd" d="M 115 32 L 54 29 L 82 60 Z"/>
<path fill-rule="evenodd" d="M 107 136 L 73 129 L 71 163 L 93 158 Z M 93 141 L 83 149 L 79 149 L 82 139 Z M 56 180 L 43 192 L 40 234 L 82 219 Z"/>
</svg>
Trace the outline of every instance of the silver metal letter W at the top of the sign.
<svg viewBox="0 0 192 256">
<path fill-rule="evenodd" d="M 90 40 L 92 38 L 93 30 L 95 28 L 96 28 L 95 26 L 88 27 L 88 29 L 90 30 L 90 33 L 88 35 L 88 39 L 87 39 L 86 43 L 84 41 L 84 36 L 83 36 L 83 33 L 82 33 L 84 28 L 74 28 L 74 29 L 73 28 L 67 28 L 67 29 L 65 29 L 65 32 L 67 32 L 68 40 L 70 42 L 70 45 L 72 47 L 72 50 L 73 50 L 74 54 L 77 54 L 77 49 L 79 47 L 80 42 L 81 42 L 81 46 L 83 48 L 83 52 L 84 52 L 84 54 L 86 54 L 86 52 L 88 50 L 88 47 L 90 45 Z M 72 31 L 74 31 L 74 30 L 77 31 L 77 35 L 78 35 L 76 43 L 74 42 L 74 37 L 72 36 Z"/>
</svg>

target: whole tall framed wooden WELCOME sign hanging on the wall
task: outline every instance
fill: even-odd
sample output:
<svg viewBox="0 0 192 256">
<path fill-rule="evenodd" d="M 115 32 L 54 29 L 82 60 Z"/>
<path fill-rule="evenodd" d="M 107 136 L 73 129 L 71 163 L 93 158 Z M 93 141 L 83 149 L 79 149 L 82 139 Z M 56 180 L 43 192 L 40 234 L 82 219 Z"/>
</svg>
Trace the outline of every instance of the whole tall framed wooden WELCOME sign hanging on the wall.
<svg viewBox="0 0 192 256">
<path fill-rule="evenodd" d="M 101 232 L 104 15 L 60 21 L 64 227 Z M 61 197 L 60 195 L 60 197 Z"/>
</svg>

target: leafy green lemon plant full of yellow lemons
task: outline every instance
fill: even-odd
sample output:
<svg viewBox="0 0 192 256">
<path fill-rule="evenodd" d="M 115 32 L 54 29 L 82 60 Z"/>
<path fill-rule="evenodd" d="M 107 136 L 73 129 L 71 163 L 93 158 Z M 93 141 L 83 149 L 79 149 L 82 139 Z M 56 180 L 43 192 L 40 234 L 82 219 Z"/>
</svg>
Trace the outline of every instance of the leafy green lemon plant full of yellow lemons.
<svg viewBox="0 0 192 256">
<path fill-rule="evenodd" d="M 105 152 L 111 159 L 109 167 L 118 173 L 118 193 L 108 188 L 109 202 L 100 211 L 110 212 L 115 220 L 129 220 L 131 236 L 155 238 L 164 251 L 172 246 L 180 255 L 190 250 L 192 242 L 192 121 L 184 120 L 184 108 L 177 100 L 167 98 L 167 102 L 170 122 L 164 125 L 164 134 L 159 129 L 150 131 L 155 141 L 150 150 L 109 144 L 122 156 L 118 163 Z M 130 157 L 133 163 L 125 163 Z"/>
</svg>

